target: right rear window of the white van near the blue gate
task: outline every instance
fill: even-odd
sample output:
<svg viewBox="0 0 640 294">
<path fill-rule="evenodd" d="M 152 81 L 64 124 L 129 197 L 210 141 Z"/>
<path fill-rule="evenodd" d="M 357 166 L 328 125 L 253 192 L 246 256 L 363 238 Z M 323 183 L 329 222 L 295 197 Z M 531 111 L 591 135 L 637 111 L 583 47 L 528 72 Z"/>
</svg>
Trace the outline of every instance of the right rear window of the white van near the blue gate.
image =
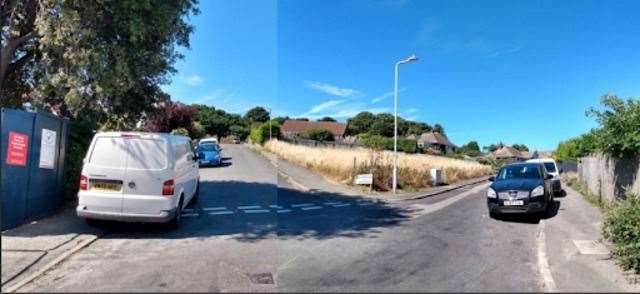
<svg viewBox="0 0 640 294">
<path fill-rule="evenodd" d="M 167 167 L 166 144 L 160 140 L 129 139 L 128 168 L 164 169 Z"/>
</svg>

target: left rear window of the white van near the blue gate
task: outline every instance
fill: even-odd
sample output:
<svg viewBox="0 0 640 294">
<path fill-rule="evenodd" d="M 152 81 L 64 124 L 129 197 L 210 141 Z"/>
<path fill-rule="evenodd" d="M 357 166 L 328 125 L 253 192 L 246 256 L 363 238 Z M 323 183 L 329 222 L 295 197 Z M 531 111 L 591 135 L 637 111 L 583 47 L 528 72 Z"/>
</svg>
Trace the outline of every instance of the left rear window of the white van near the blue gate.
<svg viewBox="0 0 640 294">
<path fill-rule="evenodd" d="M 96 140 L 89 163 L 104 167 L 125 167 L 127 145 L 123 138 L 102 137 Z"/>
</svg>

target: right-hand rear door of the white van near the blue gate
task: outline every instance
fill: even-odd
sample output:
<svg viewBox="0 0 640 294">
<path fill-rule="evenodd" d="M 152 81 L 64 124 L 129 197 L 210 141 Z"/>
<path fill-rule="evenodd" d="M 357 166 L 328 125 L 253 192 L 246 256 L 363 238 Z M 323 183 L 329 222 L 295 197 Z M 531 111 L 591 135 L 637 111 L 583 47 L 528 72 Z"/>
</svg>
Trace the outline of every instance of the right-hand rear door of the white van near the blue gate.
<svg viewBox="0 0 640 294">
<path fill-rule="evenodd" d="M 154 136 L 127 137 L 128 157 L 122 212 L 157 214 L 167 210 L 163 183 L 172 176 L 167 139 Z"/>
</svg>

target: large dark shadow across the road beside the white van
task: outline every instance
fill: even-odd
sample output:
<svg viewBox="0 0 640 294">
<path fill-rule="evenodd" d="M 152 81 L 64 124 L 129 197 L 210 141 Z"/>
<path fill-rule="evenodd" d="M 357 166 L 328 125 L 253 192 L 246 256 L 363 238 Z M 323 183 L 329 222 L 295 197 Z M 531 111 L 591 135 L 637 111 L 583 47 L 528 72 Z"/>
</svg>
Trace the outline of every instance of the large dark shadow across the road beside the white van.
<svg viewBox="0 0 640 294">
<path fill-rule="evenodd" d="M 302 192 L 269 183 L 211 181 L 200 183 L 200 196 L 189 205 L 197 217 L 183 218 L 181 226 L 169 230 L 161 224 L 101 222 L 108 233 L 103 238 L 178 239 L 230 236 L 242 242 L 264 239 L 326 239 L 333 237 L 375 238 L 380 229 L 400 226 L 409 219 L 405 208 L 368 198 L 327 193 Z M 327 202 L 350 204 L 348 207 L 323 205 Z M 303 210 L 296 204 L 313 203 L 318 210 Z M 290 209 L 287 214 L 269 208 L 268 213 L 248 214 L 239 206 L 278 205 Z M 292 206 L 293 205 L 293 206 Z M 209 215 L 203 208 L 227 207 L 229 215 Z"/>
</svg>

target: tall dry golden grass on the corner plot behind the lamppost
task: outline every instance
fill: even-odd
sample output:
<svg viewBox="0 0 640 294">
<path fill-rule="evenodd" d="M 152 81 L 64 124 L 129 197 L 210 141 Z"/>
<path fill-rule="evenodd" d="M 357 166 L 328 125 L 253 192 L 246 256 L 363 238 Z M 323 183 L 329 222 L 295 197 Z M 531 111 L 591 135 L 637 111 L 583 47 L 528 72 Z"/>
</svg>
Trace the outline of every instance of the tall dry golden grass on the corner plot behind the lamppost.
<svg viewBox="0 0 640 294">
<path fill-rule="evenodd" d="M 360 173 L 374 174 L 376 189 L 388 190 L 391 186 L 393 152 L 374 151 L 365 148 L 308 147 L 282 141 L 269 141 L 264 148 L 278 157 L 304 166 L 327 178 L 351 184 Z M 491 174 L 488 165 L 426 154 L 398 154 L 398 185 L 405 190 L 431 186 L 430 170 L 442 169 L 446 183 Z"/>
</svg>

